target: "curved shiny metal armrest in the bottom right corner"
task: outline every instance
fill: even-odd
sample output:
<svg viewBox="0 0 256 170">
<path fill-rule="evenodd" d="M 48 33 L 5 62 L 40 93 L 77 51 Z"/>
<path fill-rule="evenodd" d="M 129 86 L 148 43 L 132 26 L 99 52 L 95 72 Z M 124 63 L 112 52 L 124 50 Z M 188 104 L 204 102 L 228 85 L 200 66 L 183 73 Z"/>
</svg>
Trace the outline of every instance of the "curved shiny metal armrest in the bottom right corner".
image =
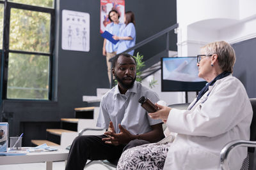
<svg viewBox="0 0 256 170">
<path fill-rule="evenodd" d="M 256 141 L 243 141 L 243 140 L 235 140 L 227 143 L 220 152 L 220 164 L 222 170 L 229 170 L 228 167 L 228 159 L 230 157 L 230 151 L 238 146 L 246 146 L 246 147 L 256 147 Z"/>
</svg>

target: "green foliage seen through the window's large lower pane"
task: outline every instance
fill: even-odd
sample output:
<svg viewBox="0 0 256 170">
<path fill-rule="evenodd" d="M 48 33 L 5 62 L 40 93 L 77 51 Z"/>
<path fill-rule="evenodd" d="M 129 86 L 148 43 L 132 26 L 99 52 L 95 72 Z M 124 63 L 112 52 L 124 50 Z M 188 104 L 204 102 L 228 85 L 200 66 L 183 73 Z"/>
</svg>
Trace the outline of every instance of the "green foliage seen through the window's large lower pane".
<svg viewBox="0 0 256 170">
<path fill-rule="evenodd" d="M 49 57 L 10 53 L 8 99 L 48 99 Z"/>
</svg>

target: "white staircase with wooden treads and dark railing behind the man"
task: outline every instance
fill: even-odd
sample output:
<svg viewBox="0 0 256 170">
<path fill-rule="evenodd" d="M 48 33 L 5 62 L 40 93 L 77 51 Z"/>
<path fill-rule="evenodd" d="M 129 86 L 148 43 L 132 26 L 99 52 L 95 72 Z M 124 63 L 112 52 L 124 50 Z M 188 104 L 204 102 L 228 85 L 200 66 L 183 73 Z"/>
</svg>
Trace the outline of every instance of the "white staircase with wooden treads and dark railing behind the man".
<svg viewBox="0 0 256 170">
<path fill-rule="evenodd" d="M 147 78 L 151 74 L 157 74 L 159 69 L 159 60 L 161 57 L 172 56 L 169 51 L 169 32 L 173 31 L 179 26 L 179 24 L 174 24 L 171 27 L 164 29 L 163 31 L 158 32 L 157 34 L 137 43 L 132 48 L 127 49 L 125 52 L 130 52 L 140 46 L 143 46 L 150 41 L 158 38 L 159 36 L 166 36 L 166 50 L 157 53 L 157 55 L 151 57 L 145 61 L 145 69 L 143 69 L 143 79 Z M 172 52 L 171 52 L 172 53 Z M 115 57 L 111 58 L 109 61 L 112 61 Z M 159 77 L 159 76 L 157 76 Z M 147 83 L 147 82 L 146 82 Z M 110 83 L 109 87 L 113 87 L 113 82 Z M 157 87 L 159 89 L 159 87 Z M 89 106 L 90 103 L 99 102 L 101 97 L 108 92 L 109 89 L 97 89 L 97 96 L 83 96 L 83 101 L 87 102 Z M 161 96 L 160 96 L 161 97 Z M 163 99 L 163 97 L 161 97 Z M 166 101 L 169 99 L 167 98 Z M 86 107 L 86 108 L 75 108 L 75 118 L 61 118 L 61 129 L 46 129 L 47 139 L 46 140 L 31 140 L 33 145 L 41 145 L 47 143 L 49 146 L 63 146 L 67 147 L 72 144 L 72 141 L 78 135 L 78 132 L 84 128 L 95 128 L 97 117 L 99 115 L 99 107 Z M 84 134 L 102 134 L 103 131 L 86 131 Z"/>
</svg>

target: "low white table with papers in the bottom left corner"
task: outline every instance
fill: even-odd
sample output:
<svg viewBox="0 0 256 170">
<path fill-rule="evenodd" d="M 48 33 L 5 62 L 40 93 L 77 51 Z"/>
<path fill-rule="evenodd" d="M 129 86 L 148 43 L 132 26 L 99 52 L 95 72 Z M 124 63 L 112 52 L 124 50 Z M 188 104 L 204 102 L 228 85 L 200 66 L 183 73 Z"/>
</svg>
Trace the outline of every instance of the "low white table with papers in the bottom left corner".
<svg viewBox="0 0 256 170">
<path fill-rule="evenodd" d="M 58 148 L 51 152 L 29 152 L 26 155 L 0 156 L 0 165 L 46 162 L 46 170 L 52 170 L 52 162 L 68 159 L 68 150 Z"/>
</svg>

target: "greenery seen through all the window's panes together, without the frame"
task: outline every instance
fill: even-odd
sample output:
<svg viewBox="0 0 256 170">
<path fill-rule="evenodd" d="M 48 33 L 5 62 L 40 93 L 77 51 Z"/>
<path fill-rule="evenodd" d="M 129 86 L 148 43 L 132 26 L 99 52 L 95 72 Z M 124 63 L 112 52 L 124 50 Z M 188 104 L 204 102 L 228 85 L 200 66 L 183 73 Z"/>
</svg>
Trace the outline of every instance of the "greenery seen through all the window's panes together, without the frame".
<svg viewBox="0 0 256 170">
<path fill-rule="evenodd" d="M 11 2 L 52 7 L 53 0 Z M 0 33 L 3 32 L 3 12 L 0 4 Z M 49 99 L 50 56 L 35 53 L 50 53 L 50 34 L 50 13 L 11 8 L 9 49 L 34 54 L 9 53 L 7 99 Z"/>
</svg>

